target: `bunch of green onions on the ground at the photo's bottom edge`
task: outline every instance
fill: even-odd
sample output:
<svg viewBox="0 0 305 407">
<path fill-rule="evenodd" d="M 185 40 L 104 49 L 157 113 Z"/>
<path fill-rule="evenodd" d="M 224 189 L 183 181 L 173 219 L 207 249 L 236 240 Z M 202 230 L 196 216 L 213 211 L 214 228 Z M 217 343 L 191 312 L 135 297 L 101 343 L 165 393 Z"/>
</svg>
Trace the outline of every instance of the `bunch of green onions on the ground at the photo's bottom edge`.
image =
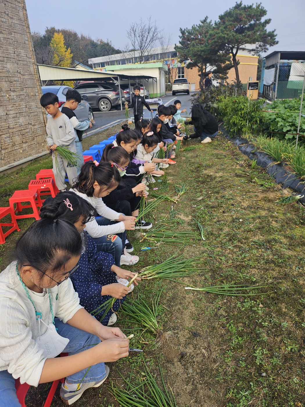
<svg viewBox="0 0 305 407">
<path fill-rule="evenodd" d="M 110 392 L 118 404 L 122 407 L 177 407 L 171 387 L 168 385 L 170 390 L 166 389 L 159 360 L 157 359 L 163 389 L 162 386 L 156 383 L 154 376 L 148 370 L 143 354 L 139 358 L 142 359 L 144 365 L 144 372 L 141 372 L 142 375 L 144 374 L 142 376 L 144 377 L 143 381 L 141 380 L 138 383 L 132 381 L 131 372 L 129 380 L 120 374 L 126 386 L 119 386 L 112 382 Z"/>
</svg>

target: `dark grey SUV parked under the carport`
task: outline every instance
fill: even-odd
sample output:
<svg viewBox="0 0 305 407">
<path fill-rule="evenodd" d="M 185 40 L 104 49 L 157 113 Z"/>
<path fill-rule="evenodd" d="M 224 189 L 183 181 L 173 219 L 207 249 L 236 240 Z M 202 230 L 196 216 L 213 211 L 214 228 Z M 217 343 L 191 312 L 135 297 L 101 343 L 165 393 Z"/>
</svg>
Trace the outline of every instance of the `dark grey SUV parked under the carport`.
<svg viewBox="0 0 305 407">
<path fill-rule="evenodd" d="M 91 108 L 98 108 L 101 112 L 109 112 L 111 107 L 121 103 L 119 87 L 114 83 L 82 83 L 74 89 L 82 96 L 87 96 L 87 102 Z M 122 102 L 124 102 L 123 95 Z"/>
</svg>

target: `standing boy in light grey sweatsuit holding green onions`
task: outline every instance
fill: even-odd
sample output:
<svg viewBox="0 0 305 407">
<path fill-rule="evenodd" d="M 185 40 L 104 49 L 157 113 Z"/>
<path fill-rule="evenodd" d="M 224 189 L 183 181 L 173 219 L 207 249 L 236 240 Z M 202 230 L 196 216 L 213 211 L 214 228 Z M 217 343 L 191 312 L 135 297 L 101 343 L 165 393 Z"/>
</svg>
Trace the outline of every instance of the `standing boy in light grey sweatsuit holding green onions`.
<svg viewBox="0 0 305 407">
<path fill-rule="evenodd" d="M 57 154 L 59 164 L 59 173 L 55 163 L 55 153 L 57 147 L 69 147 L 70 151 L 76 151 L 75 132 L 69 118 L 59 110 L 58 97 L 54 93 L 47 92 L 40 98 L 40 104 L 46 109 L 46 112 L 52 117 L 48 118 L 46 125 L 48 148 L 52 151 L 53 173 L 57 188 L 63 192 L 67 186 L 65 184 L 65 173 L 69 178 L 69 183 L 77 179 L 76 167 Z"/>
</svg>

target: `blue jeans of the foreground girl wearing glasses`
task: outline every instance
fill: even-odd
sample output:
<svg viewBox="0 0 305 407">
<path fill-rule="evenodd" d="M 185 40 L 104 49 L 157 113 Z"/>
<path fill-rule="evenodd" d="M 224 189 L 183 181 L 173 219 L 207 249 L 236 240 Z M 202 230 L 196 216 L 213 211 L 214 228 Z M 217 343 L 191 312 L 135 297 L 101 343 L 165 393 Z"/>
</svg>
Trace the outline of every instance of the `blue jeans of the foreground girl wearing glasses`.
<svg viewBox="0 0 305 407">
<path fill-rule="evenodd" d="M 68 352 L 69 356 L 90 349 L 90 345 L 100 343 L 100 338 L 91 333 L 64 324 L 58 318 L 55 318 L 54 322 L 59 335 L 70 339 L 70 342 L 63 350 L 63 352 Z M 67 381 L 69 383 L 80 383 L 86 371 L 87 368 L 68 376 Z M 100 381 L 105 376 L 105 364 L 103 362 L 98 363 L 91 366 L 82 383 Z M 0 372 L 0 407 L 21 407 L 16 396 L 15 379 L 7 370 Z"/>
</svg>

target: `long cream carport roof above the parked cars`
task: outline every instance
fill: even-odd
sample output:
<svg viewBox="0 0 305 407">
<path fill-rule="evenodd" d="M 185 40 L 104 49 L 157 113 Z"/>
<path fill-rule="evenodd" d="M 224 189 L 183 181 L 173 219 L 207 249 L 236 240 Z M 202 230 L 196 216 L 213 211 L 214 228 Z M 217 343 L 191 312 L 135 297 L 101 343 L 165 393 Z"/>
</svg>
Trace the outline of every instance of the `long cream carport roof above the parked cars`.
<svg viewBox="0 0 305 407">
<path fill-rule="evenodd" d="M 124 75 L 112 71 L 101 72 L 76 68 L 63 68 L 37 64 L 41 81 L 92 81 L 94 79 L 120 77 L 120 79 L 156 79 L 146 75 Z"/>
</svg>

